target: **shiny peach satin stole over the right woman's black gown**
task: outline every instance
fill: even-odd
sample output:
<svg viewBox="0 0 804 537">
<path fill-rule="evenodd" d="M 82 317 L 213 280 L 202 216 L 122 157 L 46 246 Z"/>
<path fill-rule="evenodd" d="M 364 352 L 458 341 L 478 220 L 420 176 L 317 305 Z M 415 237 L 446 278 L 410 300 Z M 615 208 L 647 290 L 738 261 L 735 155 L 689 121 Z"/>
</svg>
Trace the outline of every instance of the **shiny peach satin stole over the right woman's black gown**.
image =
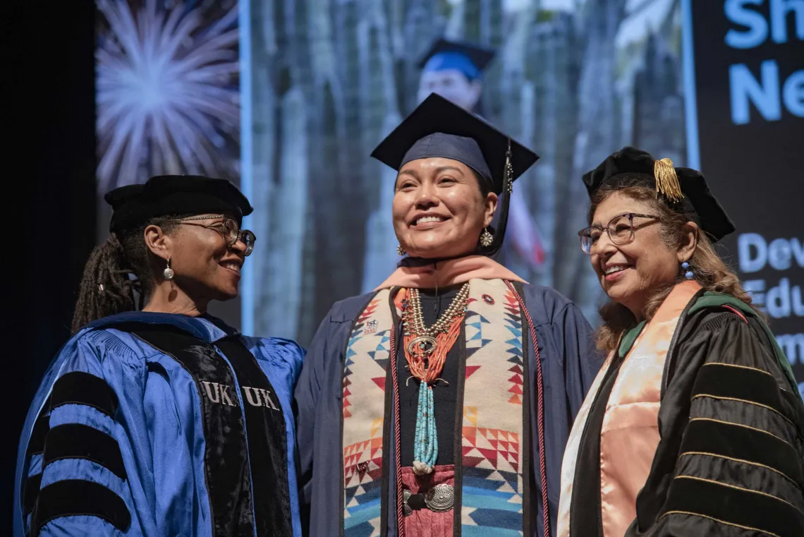
<svg viewBox="0 0 804 537">
<path fill-rule="evenodd" d="M 684 281 L 662 302 L 626 355 L 606 404 L 601 427 L 601 519 L 605 537 L 621 537 L 637 515 L 637 494 L 650 473 L 658 446 L 658 409 L 667 351 L 689 301 L 700 289 Z M 597 374 L 572 425 L 561 465 L 557 537 L 569 537 L 572 480 L 580 440 L 597 391 L 612 363 L 613 350 Z M 589 514 L 593 516 L 593 514 Z"/>
</svg>

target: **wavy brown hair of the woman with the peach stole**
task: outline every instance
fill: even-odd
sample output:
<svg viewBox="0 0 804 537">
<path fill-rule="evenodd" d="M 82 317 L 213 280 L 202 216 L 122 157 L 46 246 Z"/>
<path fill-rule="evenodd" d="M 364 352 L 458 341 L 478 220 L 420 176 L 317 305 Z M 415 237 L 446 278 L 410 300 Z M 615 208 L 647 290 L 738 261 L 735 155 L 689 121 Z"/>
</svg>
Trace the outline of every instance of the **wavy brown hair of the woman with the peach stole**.
<svg viewBox="0 0 804 537">
<path fill-rule="evenodd" d="M 681 246 L 686 233 L 685 224 L 690 221 L 688 215 L 684 215 L 678 211 L 674 211 L 671 207 L 664 203 L 661 199 L 656 198 L 656 191 L 653 188 L 645 187 L 640 184 L 639 178 L 634 177 L 633 180 L 623 178 L 617 186 L 604 186 L 598 190 L 592 198 L 592 203 L 589 207 L 589 223 L 592 222 L 593 215 L 597 207 L 614 193 L 621 194 L 646 203 L 649 205 L 654 214 L 658 217 L 661 225 L 662 240 L 668 248 L 676 249 Z M 717 255 L 712 241 L 706 233 L 702 232 L 699 228 L 697 236 L 697 245 L 695 252 L 693 252 L 691 259 L 688 260 L 693 268 L 695 274 L 695 281 L 707 291 L 714 291 L 716 293 L 724 293 L 737 298 L 745 304 L 751 306 L 757 314 L 764 317 L 763 314 L 751 303 L 749 293 L 745 292 L 740 279 L 736 273 L 732 271 L 724 263 L 720 256 Z M 679 268 L 679 274 L 676 281 L 668 285 L 656 289 L 647 301 L 645 309 L 645 318 L 650 321 L 653 318 L 659 305 L 667 295 L 670 294 L 673 287 L 679 282 L 684 280 L 683 272 Z M 616 302 L 609 301 L 599 310 L 603 325 L 597 330 L 597 348 L 601 350 L 614 350 L 619 342 L 621 335 L 627 330 L 637 326 L 637 319 L 630 309 L 626 306 L 617 304 Z"/>
</svg>

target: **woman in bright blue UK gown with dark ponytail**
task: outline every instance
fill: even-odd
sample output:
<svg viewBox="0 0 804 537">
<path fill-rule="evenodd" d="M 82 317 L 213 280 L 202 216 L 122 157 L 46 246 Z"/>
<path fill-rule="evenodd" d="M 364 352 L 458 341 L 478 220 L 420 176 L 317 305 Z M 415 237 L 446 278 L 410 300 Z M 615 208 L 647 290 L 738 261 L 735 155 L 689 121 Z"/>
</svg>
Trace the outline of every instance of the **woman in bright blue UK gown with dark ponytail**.
<svg viewBox="0 0 804 537">
<path fill-rule="evenodd" d="M 240 228 L 248 199 L 199 176 L 105 199 L 111 235 L 23 429 L 14 535 L 300 537 L 291 391 L 303 350 L 207 315 L 237 295 L 255 240 Z"/>
</svg>

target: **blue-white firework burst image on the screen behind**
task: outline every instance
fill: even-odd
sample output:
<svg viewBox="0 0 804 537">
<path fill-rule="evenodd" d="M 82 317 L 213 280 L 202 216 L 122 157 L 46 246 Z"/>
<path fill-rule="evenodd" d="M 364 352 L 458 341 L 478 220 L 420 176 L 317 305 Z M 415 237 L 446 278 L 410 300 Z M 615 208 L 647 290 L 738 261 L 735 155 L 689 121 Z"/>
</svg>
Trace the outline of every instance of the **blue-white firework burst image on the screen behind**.
<svg viewBox="0 0 804 537">
<path fill-rule="evenodd" d="M 98 191 L 240 176 L 236 2 L 99 0 Z"/>
</svg>

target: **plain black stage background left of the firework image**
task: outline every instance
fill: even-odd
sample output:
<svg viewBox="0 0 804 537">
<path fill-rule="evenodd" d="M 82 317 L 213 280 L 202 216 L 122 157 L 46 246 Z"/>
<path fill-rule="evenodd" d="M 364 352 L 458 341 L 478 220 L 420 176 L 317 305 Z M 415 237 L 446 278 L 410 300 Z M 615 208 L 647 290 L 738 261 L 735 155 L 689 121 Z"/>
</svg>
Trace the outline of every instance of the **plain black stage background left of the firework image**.
<svg viewBox="0 0 804 537">
<path fill-rule="evenodd" d="M 47 363 L 69 337 L 84 261 L 96 240 L 95 6 L 80 0 L 4 7 L 8 344 L 0 390 L 6 438 L 0 443 L 0 535 L 11 535 L 19 433 Z"/>
</svg>

